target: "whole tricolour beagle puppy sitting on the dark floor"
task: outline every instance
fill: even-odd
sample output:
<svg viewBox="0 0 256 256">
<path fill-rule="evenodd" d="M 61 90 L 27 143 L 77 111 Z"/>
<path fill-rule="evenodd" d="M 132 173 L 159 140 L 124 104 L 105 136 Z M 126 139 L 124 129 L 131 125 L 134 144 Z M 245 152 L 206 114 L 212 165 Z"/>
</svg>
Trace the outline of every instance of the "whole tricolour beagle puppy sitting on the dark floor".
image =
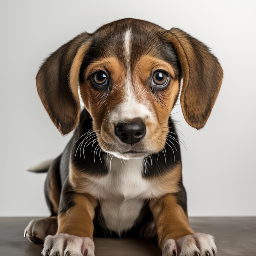
<svg viewBox="0 0 256 256">
<path fill-rule="evenodd" d="M 62 135 L 47 171 L 49 218 L 25 236 L 43 256 L 94 256 L 93 236 L 155 238 L 162 256 L 216 254 L 189 225 L 179 136 L 171 111 L 206 123 L 222 83 L 209 48 L 184 31 L 123 19 L 61 46 L 41 65 L 38 94 Z M 81 102 L 83 109 L 81 110 Z"/>
</svg>

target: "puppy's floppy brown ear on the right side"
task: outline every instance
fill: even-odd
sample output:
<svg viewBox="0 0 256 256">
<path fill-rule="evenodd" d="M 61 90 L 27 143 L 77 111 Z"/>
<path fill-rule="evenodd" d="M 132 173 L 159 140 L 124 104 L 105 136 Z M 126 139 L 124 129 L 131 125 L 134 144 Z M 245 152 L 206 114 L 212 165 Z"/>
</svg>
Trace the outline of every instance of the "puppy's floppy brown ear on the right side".
<svg viewBox="0 0 256 256">
<path fill-rule="evenodd" d="M 183 76 L 180 102 L 187 123 L 202 128 L 213 108 L 223 71 L 209 48 L 184 31 L 173 28 L 169 40 L 177 52 Z"/>
</svg>

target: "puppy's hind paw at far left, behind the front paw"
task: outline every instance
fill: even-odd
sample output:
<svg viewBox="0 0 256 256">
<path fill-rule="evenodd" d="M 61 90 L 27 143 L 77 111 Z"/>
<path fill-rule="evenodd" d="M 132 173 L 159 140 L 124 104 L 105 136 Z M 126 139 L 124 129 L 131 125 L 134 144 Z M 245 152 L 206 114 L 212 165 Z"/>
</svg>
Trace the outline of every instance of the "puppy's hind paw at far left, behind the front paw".
<svg viewBox="0 0 256 256">
<path fill-rule="evenodd" d="M 42 218 L 31 220 L 25 228 L 24 237 L 32 243 L 43 243 L 47 235 L 55 235 L 57 232 L 56 218 Z"/>
</svg>

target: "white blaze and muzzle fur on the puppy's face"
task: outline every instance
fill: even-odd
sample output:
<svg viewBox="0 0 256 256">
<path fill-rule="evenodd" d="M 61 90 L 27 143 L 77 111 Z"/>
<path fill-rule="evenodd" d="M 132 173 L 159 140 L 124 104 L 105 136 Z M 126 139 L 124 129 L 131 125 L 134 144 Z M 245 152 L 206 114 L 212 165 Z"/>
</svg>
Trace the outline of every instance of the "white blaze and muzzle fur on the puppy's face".
<svg viewBox="0 0 256 256">
<path fill-rule="evenodd" d="M 117 104 L 117 106 L 115 106 L 113 110 L 109 112 L 107 122 L 109 124 L 109 127 L 115 127 L 119 123 L 132 120 L 141 120 L 145 124 L 150 124 L 150 126 L 154 126 L 154 124 L 155 126 L 157 126 L 157 117 L 154 109 L 147 101 L 145 101 L 145 103 L 140 103 L 138 101 L 137 93 L 132 84 L 132 74 L 130 68 L 131 36 L 131 30 L 126 30 L 124 33 L 124 57 L 126 60 L 127 68 L 124 84 L 124 99 L 121 103 Z M 115 150 L 112 150 L 112 148 L 110 147 L 105 150 L 105 152 L 114 155 L 117 158 L 131 159 L 147 157 L 148 155 L 158 151 L 158 148 L 157 150 L 154 148 L 155 145 L 151 145 L 150 139 L 147 139 L 147 137 L 150 136 L 148 135 L 148 131 L 146 131 L 145 138 L 139 144 L 133 145 L 133 148 L 131 148 L 131 146 L 128 144 L 120 144 L 119 138 L 117 138 L 117 136 L 115 135 L 115 129 L 110 130 L 110 133 L 111 134 L 108 135 L 111 136 L 112 144 L 116 145 Z M 148 141 L 149 144 L 145 145 L 144 143 L 146 143 L 146 141 Z M 137 150 L 140 153 L 137 153 L 137 155 L 135 155 L 134 152 L 129 153 L 130 150 L 134 149 L 135 151 Z M 122 152 L 122 154 L 119 152 Z"/>
</svg>

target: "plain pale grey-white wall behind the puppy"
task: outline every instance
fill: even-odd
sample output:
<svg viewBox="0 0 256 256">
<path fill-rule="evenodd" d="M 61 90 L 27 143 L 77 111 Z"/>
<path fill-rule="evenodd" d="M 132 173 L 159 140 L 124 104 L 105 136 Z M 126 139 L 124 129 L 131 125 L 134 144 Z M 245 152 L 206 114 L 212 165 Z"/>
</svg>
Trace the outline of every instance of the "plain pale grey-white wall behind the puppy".
<svg viewBox="0 0 256 256">
<path fill-rule="evenodd" d="M 211 47 L 224 70 L 207 125 L 191 128 L 179 112 L 190 216 L 256 215 L 256 1 L 1 0 L 0 216 L 47 216 L 45 174 L 26 168 L 56 157 L 62 137 L 36 92 L 51 52 L 82 31 L 120 18 L 179 27 Z"/>
</svg>

